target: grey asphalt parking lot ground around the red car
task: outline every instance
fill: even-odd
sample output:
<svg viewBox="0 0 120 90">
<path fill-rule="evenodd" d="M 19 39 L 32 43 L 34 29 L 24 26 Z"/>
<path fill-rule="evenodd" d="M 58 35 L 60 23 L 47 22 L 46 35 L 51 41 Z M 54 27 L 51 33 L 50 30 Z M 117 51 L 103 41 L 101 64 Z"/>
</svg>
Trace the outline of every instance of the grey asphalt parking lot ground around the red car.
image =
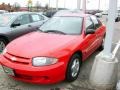
<svg viewBox="0 0 120 90">
<path fill-rule="evenodd" d="M 115 48 L 116 43 L 120 40 L 120 22 L 115 24 L 115 31 L 113 36 L 112 50 Z M 62 81 L 54 85 L 35 85 L 24 83 L 9 78 L 0 66 L 0 90 L 94 90 L 89 83 L 89 74 L 95 59 L 99 54 L 96 51 L 92 54 L 82 65 L 79 78 L 73 83 Z M 118 60 L 120 59 L 120 48 L 116 54 Z M 120 63 L 118 67 L 118 80 L 120 79 Z M 55 89 L 56 88 L 56 89 Z"/>
</svg>

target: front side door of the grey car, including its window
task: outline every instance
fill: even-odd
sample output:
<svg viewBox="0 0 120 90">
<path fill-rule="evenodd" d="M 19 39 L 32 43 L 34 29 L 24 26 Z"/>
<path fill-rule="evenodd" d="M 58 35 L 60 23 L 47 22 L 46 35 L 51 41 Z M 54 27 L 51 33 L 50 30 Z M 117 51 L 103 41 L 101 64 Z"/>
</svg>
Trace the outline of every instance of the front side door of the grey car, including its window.
<svg viewBox="0 0 120 90">
<path fill-rule="evenodd" d="M 18 23 L 20 24 L 19 26 L 12 27 L 12 24 L 18 24 Z M 34 31 L 34 29 L 31 27 L 29 14 L 24 14 L 19 16 L 12 24 L 11 24 L 11 32 L 9 33 L 11 39 L 15 39 L 21 35 Z"/>
</svg>

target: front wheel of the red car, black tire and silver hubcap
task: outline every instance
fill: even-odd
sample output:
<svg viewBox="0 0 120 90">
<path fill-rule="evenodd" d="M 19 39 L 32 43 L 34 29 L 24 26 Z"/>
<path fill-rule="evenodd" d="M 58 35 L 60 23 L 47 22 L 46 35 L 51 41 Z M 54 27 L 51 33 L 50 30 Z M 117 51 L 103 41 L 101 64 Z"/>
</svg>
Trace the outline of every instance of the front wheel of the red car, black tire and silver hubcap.
<svg viewBox="0 0 120 90">
<path fill-rule="evenodd" d="M 81 62 L 81 56 L 79 54 L 74 54 L 71 57 L 66 71 L 66 81 L 72 82 L 77 79 L 80 72 Z"/>
</svg>

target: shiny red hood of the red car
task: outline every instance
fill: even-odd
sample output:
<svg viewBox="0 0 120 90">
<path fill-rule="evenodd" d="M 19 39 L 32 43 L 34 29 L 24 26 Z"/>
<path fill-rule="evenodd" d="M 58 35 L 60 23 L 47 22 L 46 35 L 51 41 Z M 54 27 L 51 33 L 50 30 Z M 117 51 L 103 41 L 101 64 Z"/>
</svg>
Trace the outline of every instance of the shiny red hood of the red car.
<svg viewBox="0 0 120 90">
<path fill-rule="evenodd" d="M 7 52 L 26 58 L 36 56 L 54 57 L 60 50 L 69 48 L 78 36 L 33 32 L 12 41 Z"/>
</svg>

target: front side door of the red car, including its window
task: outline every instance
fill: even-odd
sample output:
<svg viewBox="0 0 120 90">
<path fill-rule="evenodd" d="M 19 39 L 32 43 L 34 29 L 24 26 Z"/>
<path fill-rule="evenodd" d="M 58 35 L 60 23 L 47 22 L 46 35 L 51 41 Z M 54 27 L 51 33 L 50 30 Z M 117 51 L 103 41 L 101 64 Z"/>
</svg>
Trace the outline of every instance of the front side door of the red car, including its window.
<svg viewBox="0 0 120 90">
<path fill-rule="evenodd" d="M 93 29 L 95 30 L 94 23 L 91 20 L 90 17 L 85 18 L 85 32 L 88 29 Z M 85 34 L 84 41 L 83 41 L 83 52 L 84 52 L 84 57 L 87 58 L 90 54 L 92 54 L 96 50 L 96 46 L 98 44 L 98 39 L 97 39 L 97 34 L 96 32 L 94 34 Z"/>
</svg>

